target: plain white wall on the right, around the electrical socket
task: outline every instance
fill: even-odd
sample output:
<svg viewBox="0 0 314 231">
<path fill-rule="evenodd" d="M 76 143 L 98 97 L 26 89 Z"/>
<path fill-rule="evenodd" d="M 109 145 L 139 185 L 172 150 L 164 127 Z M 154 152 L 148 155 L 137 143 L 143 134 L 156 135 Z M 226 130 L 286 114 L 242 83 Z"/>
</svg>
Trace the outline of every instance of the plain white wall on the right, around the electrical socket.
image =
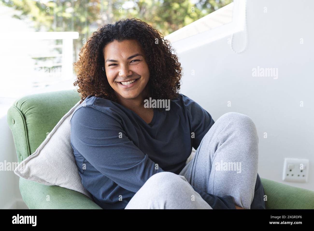
<svg viewBox="0 0 314 231">
<path fill-rule="evenodd" d="M 198 102 L 215 121 L 235 111 L 255 122 L 261 178 L 314 191 L 313 10 L 311 0 L 249 0 L 244 52 L 234 53 L 228 43 L 231 36 L 227 36 L 178 51 L 178 56 L 184 72 L 182 94 Z M 243 32 L 235 35 L 235 50 L 242 49 L 240 40 L 244 38 Z M 304 44 L 300 44 L 301 38 Z M 172 45 L 180 49 L 176 43 Z M 252 77 L 252 68 L 257 66 L 278 68 L 278 79 Z M 263 138 L 264 132 L 267 138 Z M 308 182 L 282 181 L 285 157 L 310 160 Z"/>
</svg>

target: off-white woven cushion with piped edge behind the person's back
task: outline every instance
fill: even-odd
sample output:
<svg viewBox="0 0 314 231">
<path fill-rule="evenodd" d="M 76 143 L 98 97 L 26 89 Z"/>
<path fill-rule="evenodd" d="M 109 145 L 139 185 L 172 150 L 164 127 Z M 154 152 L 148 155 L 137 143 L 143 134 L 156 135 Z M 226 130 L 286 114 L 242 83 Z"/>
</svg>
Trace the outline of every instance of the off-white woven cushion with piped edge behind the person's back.
<svg viewBox="0 0 314 231">
<path fill-rule="evenodd" d="M 84 188 L 70 141 L 70 119 L 79 102 L 65 114 L 36 151 L 19 164 L 14 173 L 43 185 L 58 185 L 92 199 Z"/>
</svg>

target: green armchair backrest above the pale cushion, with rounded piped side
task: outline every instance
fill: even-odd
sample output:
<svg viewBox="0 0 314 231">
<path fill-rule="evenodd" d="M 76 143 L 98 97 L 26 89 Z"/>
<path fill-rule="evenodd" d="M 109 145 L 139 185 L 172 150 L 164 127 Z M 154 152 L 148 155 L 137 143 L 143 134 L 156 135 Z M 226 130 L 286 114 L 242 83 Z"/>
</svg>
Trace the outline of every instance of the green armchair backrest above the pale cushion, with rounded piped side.
<svg viewBox="0 0 314 231">
<path fill-rule="evenodd" d="M 8 125 L 14 136 L 19 163 L 34 153 L 81 98 L 74 90 L 33 94 L 17 99 L 8 110 Z"/>
</svg>

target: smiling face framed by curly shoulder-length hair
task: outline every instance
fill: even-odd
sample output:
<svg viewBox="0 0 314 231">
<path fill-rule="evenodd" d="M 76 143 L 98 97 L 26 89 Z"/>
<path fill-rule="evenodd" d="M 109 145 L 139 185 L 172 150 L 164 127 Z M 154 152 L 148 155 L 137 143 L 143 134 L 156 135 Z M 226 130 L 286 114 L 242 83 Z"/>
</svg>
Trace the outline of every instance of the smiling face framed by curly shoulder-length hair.
<svg viewBox="0 0 314 231">
<path fill-rule="evenodd" d="M 149 67 L 138 41 L 114 40 L 103 52 L 107 79 L 117 98 L 142 100 L 149 81 Z"/>
</svg>

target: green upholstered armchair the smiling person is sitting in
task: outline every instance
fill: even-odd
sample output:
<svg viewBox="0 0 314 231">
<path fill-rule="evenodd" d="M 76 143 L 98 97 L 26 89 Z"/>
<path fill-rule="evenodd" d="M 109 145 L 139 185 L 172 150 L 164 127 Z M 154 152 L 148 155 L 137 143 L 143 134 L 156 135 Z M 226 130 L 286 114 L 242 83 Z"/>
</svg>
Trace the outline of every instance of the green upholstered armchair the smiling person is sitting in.
<svg viewBox="0 0 314 231">
<path fill-rule="evenodd" d="M 76 90 L 63 90 L 28 95 L 14 102 L 7 118 L 19 163 L 35 152 L 46 138 L 46 132 L 51 132 L 79 100 Z M 314 209 L 314 191 L 261 180 L 267 195 L 266 209 Z M 20 178 L 19 190 L 30 209 L 101 209 L 87 196 L 56 185 L 47 186 Z M 39 201 L 41 194 L 50 195 L 51 200 Z"/>
</svg>

